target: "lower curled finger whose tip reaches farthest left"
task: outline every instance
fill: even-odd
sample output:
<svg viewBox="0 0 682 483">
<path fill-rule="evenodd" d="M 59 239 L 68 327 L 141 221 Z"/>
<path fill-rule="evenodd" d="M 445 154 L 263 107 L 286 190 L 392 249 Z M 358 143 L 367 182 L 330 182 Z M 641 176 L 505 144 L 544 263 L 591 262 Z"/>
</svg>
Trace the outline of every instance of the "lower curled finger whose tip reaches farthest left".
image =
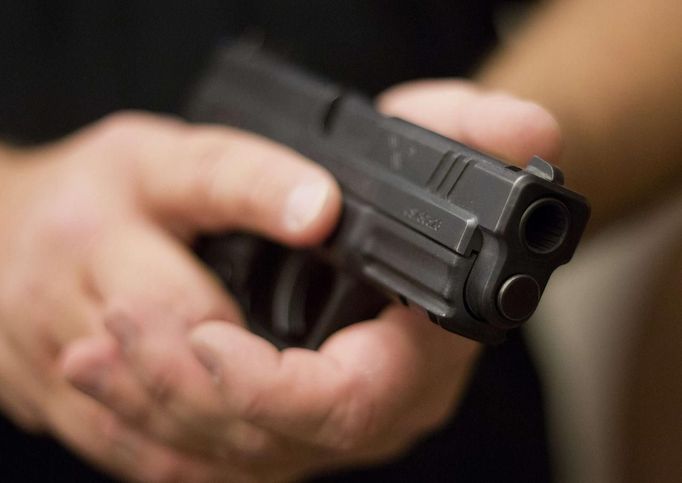
<svg viewBox="0 0 682 483">
<path fill-rule="evenodd" d="M 79 341 L 67 350 L 63 372 L 81 392 L 101 402 L 137 431 L 183 453 L 210 458 L 223 476 L 254 470 L 281 474 L 288 467 L 305 467 L 311 460 L 319 462 L 319 452 L 314 448 L 291 444 L 251 424 L 231 420 L 222 406 L 219 417 L 209 420 L 198 408 L 177 411 L 181 402 L 169 404 L 170 408 L 159 404 L 148 396 L 116 353 L 117 345 L 110 340 Z M 185 384 L 180 380 L 178 383 L 181 393 Z M 169 412 L 173 408 L 179 416 Z M 187 417 L 189 414 L 191 417 Z"/>
</svg>

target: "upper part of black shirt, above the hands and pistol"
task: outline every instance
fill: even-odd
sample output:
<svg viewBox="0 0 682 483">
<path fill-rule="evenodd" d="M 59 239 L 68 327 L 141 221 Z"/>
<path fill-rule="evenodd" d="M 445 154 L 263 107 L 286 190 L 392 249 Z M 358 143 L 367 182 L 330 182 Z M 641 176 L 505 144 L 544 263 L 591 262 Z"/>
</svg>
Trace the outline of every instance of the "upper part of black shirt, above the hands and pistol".
<svg viewBox="0 0 682 483">
<path fill-rule="evenodd" d="M 121 108 L 177 112 L 225 37 L 376 94 L 466 74 L 495 42 L 493 0 L 5 0 L 0 135 L 61 136 Z"/>
</svg>

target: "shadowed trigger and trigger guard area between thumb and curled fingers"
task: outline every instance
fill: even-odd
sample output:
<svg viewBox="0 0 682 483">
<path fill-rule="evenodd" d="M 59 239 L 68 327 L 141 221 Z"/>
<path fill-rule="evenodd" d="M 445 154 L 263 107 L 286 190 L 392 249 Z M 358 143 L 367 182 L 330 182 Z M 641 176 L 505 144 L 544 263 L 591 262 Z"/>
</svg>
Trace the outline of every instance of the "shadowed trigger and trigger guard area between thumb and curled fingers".
<svg viewBox="0 0 682 483">
<path fill-rule="evenodd" d="M 280 349 L 317 349 L 389 302 L 377 287 L 313 251 L 245 234 L 204 237 L 196 251 L 237 298 L 249 328 Z"/>
</svg>

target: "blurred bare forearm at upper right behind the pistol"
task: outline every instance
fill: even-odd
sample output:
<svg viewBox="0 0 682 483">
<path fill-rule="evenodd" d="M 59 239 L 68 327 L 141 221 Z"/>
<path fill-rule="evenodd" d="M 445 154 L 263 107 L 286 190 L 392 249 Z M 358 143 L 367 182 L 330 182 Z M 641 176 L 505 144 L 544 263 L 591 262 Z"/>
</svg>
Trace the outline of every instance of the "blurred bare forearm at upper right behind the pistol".
<svg viewBox="0 0 682 483">
<path fill-rule="evenodd" d="M 593 227 L 682 177 L 680 20 L 675 0 L 550 2 L 480 73 L 557 116 L 562 168 L 592 200 Z"/>
</svg>

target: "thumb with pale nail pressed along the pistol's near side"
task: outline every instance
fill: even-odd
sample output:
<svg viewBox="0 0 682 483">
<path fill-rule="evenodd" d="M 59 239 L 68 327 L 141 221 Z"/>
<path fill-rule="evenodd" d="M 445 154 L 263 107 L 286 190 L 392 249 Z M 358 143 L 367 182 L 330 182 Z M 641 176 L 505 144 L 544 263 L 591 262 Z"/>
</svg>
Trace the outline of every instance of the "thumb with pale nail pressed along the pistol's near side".
<svg viewBox="0 0 682 483">
<path fill-rule="evenodd" d="M 288 148 L 206 126 L 171 144 L 172 151 L 149 152 L 140 165 L 143 200 L 165 219 L 310 244 L 326 236 L 338 217 L 341 197 L 331 175 Z"/>
</svg>

